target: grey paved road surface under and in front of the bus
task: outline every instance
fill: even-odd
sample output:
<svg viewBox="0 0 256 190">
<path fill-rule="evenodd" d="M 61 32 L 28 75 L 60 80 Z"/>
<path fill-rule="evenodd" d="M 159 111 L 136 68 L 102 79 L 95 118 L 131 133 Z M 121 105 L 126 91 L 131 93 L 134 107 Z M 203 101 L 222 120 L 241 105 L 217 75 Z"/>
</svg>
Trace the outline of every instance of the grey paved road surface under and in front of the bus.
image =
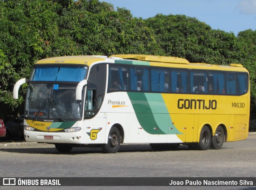
<svg viewBox="0 0 256 190">
<path fill-rule="evenodd" d="M 116 154 L 104 154 L 101 148 L 73 148 L 70 153 L 61 154 L 52 144 L 0 143 L 0 177 L 255 177 L 255 158 L 256 133 L 250 133 L 244 141 L 224 143 L 220 150 L 206 151 L 190 150 L 184 145 L 173 151 L 153 151 L 148 144 L 124 144 Z M 30 188 L 33 189 L 26 189 Z"/>
</svg>

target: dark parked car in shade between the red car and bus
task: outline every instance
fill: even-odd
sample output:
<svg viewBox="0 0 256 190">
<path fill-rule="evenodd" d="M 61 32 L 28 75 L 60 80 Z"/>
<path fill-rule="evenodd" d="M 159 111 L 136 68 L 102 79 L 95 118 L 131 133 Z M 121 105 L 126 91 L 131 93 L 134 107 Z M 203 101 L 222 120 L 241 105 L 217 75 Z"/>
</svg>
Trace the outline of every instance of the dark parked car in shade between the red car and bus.
<svg viewBox="0 0 256 190">
<path fill-rule="evenodd" d="M 4 137 L 4 139 L 24 139 L 23 119 L 24 115 L 21 115 L 20 117 L 18 117 L 18 119 L 6 120 L 4 122 L 6 128 L 6 136 Z"/>
</svg>

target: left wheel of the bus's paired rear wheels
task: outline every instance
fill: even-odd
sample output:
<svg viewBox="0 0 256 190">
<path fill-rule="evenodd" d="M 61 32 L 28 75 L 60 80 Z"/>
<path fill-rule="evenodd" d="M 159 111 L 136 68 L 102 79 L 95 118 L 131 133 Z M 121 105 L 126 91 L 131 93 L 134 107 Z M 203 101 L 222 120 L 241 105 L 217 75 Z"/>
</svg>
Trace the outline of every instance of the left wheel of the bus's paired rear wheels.
<svg viewBox="0 0 256 190">
<path fill-rule="evenodd" d="M 207 126 L 204 126 L 200 133 L 199 143 L 196 143 L 197 150 L 208 150 L 210 148 L 212 135 L 210 129 Z"/>
</svg>

